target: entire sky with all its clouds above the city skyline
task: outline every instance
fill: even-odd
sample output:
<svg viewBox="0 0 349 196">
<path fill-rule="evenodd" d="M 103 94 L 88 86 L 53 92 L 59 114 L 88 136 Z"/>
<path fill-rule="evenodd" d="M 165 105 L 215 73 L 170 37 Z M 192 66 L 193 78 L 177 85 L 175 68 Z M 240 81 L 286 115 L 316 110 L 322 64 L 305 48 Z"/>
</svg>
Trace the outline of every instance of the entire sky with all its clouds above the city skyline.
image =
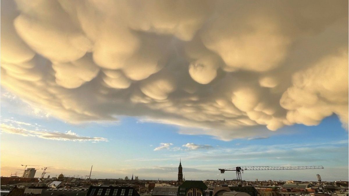
<svg viewBox="0 0 349 196">
<path fill-rule="evenodd" d="M 348 1 L 1 2 L 1 176 L 348 180 Z"/>
</svg>

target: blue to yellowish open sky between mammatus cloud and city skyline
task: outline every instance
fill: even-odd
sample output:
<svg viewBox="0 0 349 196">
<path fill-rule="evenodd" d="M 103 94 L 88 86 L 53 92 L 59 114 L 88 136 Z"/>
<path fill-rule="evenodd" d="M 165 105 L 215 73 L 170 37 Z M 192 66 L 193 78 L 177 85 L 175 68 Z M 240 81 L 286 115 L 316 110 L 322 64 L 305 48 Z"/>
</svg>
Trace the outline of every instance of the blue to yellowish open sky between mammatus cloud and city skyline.
<svg viewBox="0 0 349 196">
<path fill-rule="evenodd" d="M 18 98 L 9 99 L 8 95 L 2 89 L 1 123 L 28 130 L 33 126 L 19 122 L 37 123 L 42 126 L 39 127 L 41 130 L 60 133 L 71 130 L 80 136 L 103 137 L 107 142 L 48 140 L 2 132 L 2 175 L 21 169 L 21 164 L 54 166 L 51 176 L 61 172 L 87 175 L 90 165 L 94 165 L 96 178 L 124 178 L 135 173 L 141 179 L 171 180 L 176 179 L 176 167 L 181 158 L 186 179 L 235 178 L 235 173 L 219 173 L 218 168 L 226 167 L 308 165 L 322 165 L 325 169 L 247 171 L 244 179 L 315 180 L 317 173 L 324 180 L 348 179 L 348 131 L 336 115 L 327 117 L 318 126 L 293 125 L 283 127 L 269 137 L 222 141 L 208 135 L 179 134 L 177 126 L 126 116 L 113 123 L 74 125 L 52 116 L 18 113 L 13 107 L 27 104 Z M 17 123 L 7 121 L 11 119 Z M 161 143 L 172 145 L 154 151 Z M 184 146 L 188 143 L 199 147 L 191 149 Z M 37 175 L 40 174 L 38 171 Z"/>
</svg>

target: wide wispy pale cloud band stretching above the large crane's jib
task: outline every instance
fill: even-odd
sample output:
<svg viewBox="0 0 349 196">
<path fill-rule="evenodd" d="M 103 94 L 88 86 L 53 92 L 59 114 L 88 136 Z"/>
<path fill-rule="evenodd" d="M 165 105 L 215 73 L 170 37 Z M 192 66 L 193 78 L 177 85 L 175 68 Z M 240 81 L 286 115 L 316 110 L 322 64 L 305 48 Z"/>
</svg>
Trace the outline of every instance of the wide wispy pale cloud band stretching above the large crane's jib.
<svg viewBox="0 0 349 196">
<path fill-rule="evenodd" d="M 344 163 L 345 165 L 347 161 L 346 159 L 342 159 L 342 157 L 348 157 L 347 149 L 348 140 L 309 143 L 302 146 L 299 146 L 298 143 L 274 145 L 240 144 L 232 148 L 209 148 L 200 153 L 195 150 L 186 150 L 180 154 L 169 153 L 159 158 L 137 158 L 127 161 L 169 161 L 182 158 L 182 160 L 190 162 L 200 160 L 215 163 L 219 160 L 222 162 L 222 167 L 224 166 L 223 163 L 228 164 L 226 167 L 229 167 L 231 161 L 235 161 L 235 164 L 237 164 L 233 166 L 253 166 L 256 163 L 260 164 L 260 160 L 263 160 L 263 165 L 270 164 L 277 166 L 276 164 L 284 164 L 284 160 L 287 160 L 288 163 L 292 163 L 293 165 L 298 165 L 298 163 L 321 165 L 331 164 L 338 159 L 341 164 Z M 331 157 L 335 160 L 324 158 L 321 154 L 331 154 Z M 202 167 L 205 166 L 203 165 Z"/>
</svg>

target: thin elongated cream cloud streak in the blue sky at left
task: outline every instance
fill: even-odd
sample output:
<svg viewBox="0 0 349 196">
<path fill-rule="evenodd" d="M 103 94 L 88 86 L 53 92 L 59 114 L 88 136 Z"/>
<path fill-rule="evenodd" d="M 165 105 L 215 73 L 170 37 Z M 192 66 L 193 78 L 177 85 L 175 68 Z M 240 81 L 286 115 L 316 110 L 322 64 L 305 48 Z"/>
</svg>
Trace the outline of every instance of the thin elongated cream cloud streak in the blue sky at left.
<svg viewBox="0 0 349 196">
<path fill-rule="evenodd" d="M 103 137 L 84 137 L 79 136 L 72 131 L 66 133 L 52 132 L 46 130 L 27 130 L 24 128 L 16 128 L 10 125 L 1 123 L 1 133 L 19 134 L 23 136 L 40 137 L 47 140 L 63 140 L 63 141 L 92 141 L 92 142 L 107 142 Z"/>
</svg>

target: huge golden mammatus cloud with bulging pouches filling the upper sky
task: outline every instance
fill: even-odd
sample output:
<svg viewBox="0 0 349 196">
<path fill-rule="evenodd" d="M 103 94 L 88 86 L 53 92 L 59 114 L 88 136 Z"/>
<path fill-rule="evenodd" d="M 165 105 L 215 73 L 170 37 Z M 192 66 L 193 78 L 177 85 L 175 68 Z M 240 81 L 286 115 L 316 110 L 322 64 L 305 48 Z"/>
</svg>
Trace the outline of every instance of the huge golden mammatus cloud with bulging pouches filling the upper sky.
<svg viewBox="0 0 349 196">
<path fill-rule="evenodd" d="M 69 122 L 348 123 L 348 1 L 5 1 L 1 85 Z M 122 19 L 121 19 L 122 18 Z"/>
</svg>

